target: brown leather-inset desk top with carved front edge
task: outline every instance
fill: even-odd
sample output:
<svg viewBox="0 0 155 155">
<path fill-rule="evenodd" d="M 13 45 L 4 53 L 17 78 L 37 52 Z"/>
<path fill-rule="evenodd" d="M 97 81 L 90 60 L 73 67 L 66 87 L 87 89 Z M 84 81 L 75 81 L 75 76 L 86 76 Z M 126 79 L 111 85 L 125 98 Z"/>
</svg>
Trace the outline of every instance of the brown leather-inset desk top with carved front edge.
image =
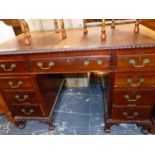
<svg viewBox="0 0 155 155">
<path fill-rule="evenodd" d="M 100 31 L 100 27 L 91 27 L 83 36 L 82 29 L 67 30 L 64 40 L 55 31 L 32 32 L 30 46 L 19 35 L 0 44 L 0 55 L 155 47 L 155 31 L 142 25 L 139 34 L 134 33 L 134 24 L 117 25 L 114 30 L 107 26 L 107 39 L 103 42 Z"/>
</svg>

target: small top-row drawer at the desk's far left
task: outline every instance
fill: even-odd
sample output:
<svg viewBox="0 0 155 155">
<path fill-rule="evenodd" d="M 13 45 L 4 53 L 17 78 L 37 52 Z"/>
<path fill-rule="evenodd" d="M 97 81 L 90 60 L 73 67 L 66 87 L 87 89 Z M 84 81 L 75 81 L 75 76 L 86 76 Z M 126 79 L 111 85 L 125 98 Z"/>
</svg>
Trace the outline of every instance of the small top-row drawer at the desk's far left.
<svg viewBox="0 0 155 155">
<path fill-rule="evenodd" d="M 27 64 L 22 57 L 0 57 L 0 74 L 25 73 L 27 71 Z"/>
</svg>

